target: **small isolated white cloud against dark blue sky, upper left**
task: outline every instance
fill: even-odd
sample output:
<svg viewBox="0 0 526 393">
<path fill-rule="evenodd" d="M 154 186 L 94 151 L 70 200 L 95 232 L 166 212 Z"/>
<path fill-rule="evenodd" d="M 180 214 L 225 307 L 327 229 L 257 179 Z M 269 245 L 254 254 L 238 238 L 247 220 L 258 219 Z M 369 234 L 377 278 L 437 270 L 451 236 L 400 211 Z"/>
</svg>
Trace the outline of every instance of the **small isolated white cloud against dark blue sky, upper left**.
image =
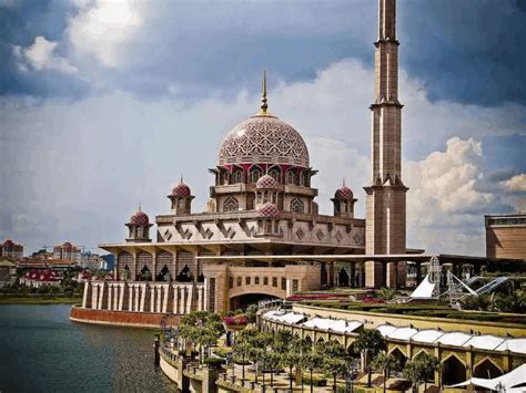
<svg viewBox="0 0 526 393">
<path fill-rule="evenodd" d="M 28 48 L 13 45 L 13 53 L 19 60 L 20 70 L 52 70 L 67 74 L 77 73 L 77 68 L 73 66 L 68 59 L 57 54 L 57 42 L 48 41 L 41 35 L 37 37 L 33 44 Z"/>
</svg>

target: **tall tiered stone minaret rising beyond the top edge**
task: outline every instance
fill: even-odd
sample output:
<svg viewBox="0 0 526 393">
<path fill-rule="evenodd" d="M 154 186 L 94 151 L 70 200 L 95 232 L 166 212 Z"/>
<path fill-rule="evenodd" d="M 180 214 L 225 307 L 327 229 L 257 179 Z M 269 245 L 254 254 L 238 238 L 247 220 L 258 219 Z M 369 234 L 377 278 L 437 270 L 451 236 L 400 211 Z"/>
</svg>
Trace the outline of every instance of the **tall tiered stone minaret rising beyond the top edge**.
<svg viewBox="0 0 526 393">
<path fill-rule="evenodd" d="M 364 187 L 367 194 L 365 250 L 367 255 L 405 254 L 407 187 L 402 182 L 403 105 L 398 101 L 396 0 L 378 0 L 378 40 L 374 45 L 372 177 L 371 184 Z M 399 281 L 405 280 L 405 271 L 399 271 L 395 278 L 394 265 L 388 267 L 390 271 L 384 268 L 386 265 L 381 262 L 366 262 L 367 287 L 405 283 Z"/>
</svg>

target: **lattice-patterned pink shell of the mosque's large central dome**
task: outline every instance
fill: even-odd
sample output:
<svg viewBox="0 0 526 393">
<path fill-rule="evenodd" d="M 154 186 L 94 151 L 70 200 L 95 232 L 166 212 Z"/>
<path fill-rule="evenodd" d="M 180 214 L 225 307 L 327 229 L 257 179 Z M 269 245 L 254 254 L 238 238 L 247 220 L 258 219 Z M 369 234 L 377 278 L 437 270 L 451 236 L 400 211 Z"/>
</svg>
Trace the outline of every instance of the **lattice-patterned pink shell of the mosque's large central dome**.
<svg viewBox="0 0 526 393">
<path fill-rule="evenodd" d="M 308 151 L 297 131 L 274 116 L 252 116 L 223 139 L 219 164 L 290 164 L 308 167 Z"/>
</svg>

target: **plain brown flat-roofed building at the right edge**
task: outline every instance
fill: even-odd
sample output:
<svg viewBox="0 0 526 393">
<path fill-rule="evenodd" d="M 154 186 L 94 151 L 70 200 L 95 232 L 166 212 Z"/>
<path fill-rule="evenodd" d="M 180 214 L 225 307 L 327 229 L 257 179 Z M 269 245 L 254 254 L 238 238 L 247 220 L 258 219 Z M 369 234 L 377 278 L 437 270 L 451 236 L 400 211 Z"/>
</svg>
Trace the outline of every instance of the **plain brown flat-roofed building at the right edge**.
<svg viewBox="0 0 526 393">
<path fill-rule="evenodd" d="M 526 214 L 487 215 L 486 257 L 526 260 Z"/>
</svg>

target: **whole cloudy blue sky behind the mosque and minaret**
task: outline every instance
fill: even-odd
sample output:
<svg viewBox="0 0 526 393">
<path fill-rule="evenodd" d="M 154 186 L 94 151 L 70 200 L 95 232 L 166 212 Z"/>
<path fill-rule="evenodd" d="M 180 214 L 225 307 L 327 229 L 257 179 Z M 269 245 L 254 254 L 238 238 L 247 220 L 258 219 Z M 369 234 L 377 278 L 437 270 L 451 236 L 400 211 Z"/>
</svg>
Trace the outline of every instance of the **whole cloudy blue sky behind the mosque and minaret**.
<svg viewBox="0 0 526 393">
<path fill-rule="evenodd" d="M 224 135 L 259 108 L 304 136 L 321 213 L 364 217 L 376 2 L 0 0 L 0 240 L 122 241 L 184 176 L 205 210 Z M 526 210 L 525 0 L 399 0 L 407 246 L 485 254 Z M 100 250 L 99 250 L 100 251 Z"/>
</svg>

